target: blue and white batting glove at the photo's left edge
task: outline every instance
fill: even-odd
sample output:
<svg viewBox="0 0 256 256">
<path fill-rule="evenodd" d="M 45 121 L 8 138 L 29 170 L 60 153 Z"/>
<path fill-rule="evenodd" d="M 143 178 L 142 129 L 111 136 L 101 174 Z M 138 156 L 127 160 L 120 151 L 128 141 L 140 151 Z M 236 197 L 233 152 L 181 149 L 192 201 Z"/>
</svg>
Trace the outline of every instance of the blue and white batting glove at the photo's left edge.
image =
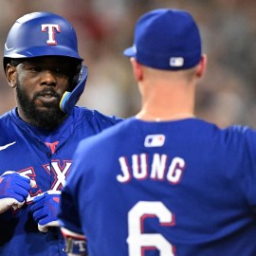
<svg viewBox="0 0 256 256">
<path fill-rule="evenodd" d="M 13 208 L 21 208 L 31 188 L 35 187 L 34 180 L 22 174 L 7 171 L 0 176 L 0 213 Z"/>
</svg>

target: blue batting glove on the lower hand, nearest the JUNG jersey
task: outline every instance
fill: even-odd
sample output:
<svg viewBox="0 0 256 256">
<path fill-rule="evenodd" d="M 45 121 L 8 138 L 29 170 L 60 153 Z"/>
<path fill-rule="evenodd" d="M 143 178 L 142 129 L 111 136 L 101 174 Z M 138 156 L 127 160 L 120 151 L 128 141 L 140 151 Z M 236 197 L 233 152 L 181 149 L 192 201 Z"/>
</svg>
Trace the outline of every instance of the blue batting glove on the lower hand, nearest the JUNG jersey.
<svg viewBox="0 0 256 256">
<path fill-rule="evenodd" d="M 59 227 L 57 213 L 60 195 L 59 191 L 47 191 L 34 198 L 30 210 L 41 232 L 47 232 L 48 227 Z"/>
</svg>

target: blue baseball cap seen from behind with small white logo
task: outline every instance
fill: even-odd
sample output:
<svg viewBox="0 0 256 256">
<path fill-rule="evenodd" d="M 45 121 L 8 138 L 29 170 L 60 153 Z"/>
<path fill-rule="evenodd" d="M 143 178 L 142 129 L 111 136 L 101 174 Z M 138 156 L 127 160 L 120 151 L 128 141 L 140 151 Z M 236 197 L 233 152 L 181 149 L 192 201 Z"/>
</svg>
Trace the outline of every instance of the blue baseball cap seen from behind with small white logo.
<svg viewBox="0 0 256 256">
<path fill-rule="evenodd" d="M 155 9 L 138 19 L 134 46 L 123 54 L 153 68 L 181 70 L 200 62 L 201 47 L 199 29 L 189 12 Z"/>
</svg>

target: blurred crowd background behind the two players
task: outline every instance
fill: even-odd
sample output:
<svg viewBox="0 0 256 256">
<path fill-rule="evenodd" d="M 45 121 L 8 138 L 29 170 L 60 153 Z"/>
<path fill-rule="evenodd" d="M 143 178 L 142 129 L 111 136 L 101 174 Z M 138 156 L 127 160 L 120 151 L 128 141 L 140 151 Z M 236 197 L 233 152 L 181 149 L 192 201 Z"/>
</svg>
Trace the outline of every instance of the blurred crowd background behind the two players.
<svg viewBox="0 0 256 256">
<path fill-rule="evenodd" d="M 201 30 L 208 71 L 197 87 L 196 115 L 219 126 L 256 128 L 255 0 L 1 0 L 0 46 L 15 20 L 32 11 L 63 15 L 75 27 L 89 68 L 79 105 L 107 115 L 137 114 L 140 96 L 123 49 L 133 44 L 137 18 L 160 8 L 186 9 Z M 29 39 L 27 39 L 29 40 Z M 0 114 L 15 106 L 0 70 Z"/>
</svg>

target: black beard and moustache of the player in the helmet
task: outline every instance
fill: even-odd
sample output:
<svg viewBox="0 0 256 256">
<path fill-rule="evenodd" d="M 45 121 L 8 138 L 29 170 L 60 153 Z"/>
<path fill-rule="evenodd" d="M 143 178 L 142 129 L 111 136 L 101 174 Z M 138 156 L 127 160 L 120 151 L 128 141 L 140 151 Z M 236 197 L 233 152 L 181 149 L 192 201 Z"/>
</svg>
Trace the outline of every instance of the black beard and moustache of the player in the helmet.
<svg viewBox="0 0 256 256">
<path fill-rule="evenodd" d="M 27 93 L 22 90 L 19 80 L 16 82 L 17 102 L 26 116 L 28 123 L 46 130 L 54 130 L 64 121 L 66 114 L 60 109 L 59 103 L 48 103 L 46 110 L 38 109 L 35 100 L 39 95 L 44 94 L 46 91 L 50 91 L 55 97 L 57 97 L 59 99 L 58 102 L 61 101 L 61 97 L 50 87 L 40 93 L 34 94 L 30 100 Z"/>
</svg>

